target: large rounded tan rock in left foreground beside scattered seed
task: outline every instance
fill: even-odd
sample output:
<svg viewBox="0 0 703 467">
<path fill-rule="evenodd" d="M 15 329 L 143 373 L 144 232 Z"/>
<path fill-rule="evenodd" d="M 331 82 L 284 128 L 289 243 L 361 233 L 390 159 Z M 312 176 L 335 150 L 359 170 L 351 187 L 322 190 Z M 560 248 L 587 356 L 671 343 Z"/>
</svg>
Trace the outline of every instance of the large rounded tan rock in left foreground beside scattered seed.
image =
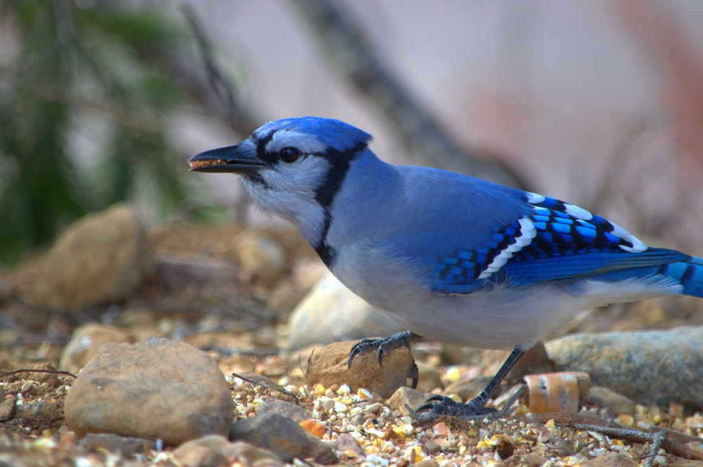
<svg viewBox="0 0 703 467">
<path fill-rule="evenodd" d="M 166 339 L 103 345 L 64 405 L 78 437 L 114 433 L 172 446 L 228 435 L 233 409 L 229 385 L 212 358 Z"/>
</svg>

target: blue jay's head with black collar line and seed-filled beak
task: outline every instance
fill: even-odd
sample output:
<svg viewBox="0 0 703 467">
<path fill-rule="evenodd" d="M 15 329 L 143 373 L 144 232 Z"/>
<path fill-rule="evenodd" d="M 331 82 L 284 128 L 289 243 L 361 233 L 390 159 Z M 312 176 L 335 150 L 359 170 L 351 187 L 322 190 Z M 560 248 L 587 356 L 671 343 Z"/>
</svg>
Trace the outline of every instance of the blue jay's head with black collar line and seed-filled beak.
<svg viewBox="0 0 703 467">
<path fill-rule="evenodd" d="M 315 245 L 349 165 L 370 140 L 370 134 L 339 120 L 287 118 L 189 162 L 195 172 L 239 174 L 257 206 L 293 222 Z"/>
</svg>

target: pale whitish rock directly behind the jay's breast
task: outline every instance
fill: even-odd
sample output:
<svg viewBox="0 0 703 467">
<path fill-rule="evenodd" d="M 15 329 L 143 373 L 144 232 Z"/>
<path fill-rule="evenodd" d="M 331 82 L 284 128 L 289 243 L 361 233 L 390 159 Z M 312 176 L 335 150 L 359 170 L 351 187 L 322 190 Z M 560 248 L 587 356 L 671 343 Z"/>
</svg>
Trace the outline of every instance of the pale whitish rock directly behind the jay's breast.
<svg viewBox="0 0 703 467">
<path fill-rule="evenodd" d="M 385 337 L 404 331 L 354 295 L 330 272 L 295 307 L 288 321 L 288 329 L 293 348 Z"/>
</svg>

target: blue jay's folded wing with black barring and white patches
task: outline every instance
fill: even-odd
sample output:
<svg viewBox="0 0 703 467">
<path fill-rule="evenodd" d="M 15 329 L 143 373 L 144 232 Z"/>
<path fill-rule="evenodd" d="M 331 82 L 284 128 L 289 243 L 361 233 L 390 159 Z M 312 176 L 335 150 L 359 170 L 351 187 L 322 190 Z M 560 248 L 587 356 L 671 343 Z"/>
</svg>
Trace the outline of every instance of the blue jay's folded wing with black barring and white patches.
<svg viewBox="0 0 703 467">
<path fill-rule="evenodd" d="M 534 193 L 525 193 L 524 202 L 532 207 L 529 214 L 498 227 L 484 245 L 434 257 L 433 290 L 530 286 L 690 260 L 681 252 L 648 248 L 617 224 L 569 203 Z"/>
</svg>

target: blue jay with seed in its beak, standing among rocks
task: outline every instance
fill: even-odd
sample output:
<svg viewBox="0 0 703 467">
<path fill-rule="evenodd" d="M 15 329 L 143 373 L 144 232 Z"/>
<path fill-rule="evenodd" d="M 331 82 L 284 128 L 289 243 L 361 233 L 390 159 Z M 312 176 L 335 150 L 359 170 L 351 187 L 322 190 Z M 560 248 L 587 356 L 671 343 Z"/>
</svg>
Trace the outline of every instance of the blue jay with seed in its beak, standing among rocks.
<svg viewBox="0 0 703 467">
<path fill-rule="evenodd" d="M 372 137 L 320 117 L 264 124 L 235 146 L 191 158 L 239 174 L 264 212 L 288 219 L 345 286 L 408 331 L 365 339 L 378 357 L 411 340 L 512 353 L 470 402 L 420 410 L 484 416 L 501 380 L 576 314 L 661 295 L 703 297 L 703 259 L 650 248 L 587 210 L 430 167 L 394 166 Z M 430 403 L 432 402 L 432 403 Z"/>
</svg>

